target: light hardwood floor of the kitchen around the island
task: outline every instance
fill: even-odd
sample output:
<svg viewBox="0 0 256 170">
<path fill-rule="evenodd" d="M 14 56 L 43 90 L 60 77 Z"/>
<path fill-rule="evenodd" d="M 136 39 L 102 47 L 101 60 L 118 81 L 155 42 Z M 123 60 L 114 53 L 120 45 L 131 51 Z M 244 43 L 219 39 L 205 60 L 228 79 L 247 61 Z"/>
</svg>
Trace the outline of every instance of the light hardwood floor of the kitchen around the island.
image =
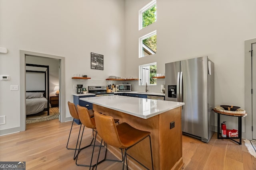
<svg viewBox="0 0 256 170">
<path fill-rule="evenodd" d="M 74 150 L 66 149 L 71 123 L 60 123 L 58 119 L 32 123 L 27 125 L 26 131 L 1 136 L 0 161 L 26 161 L 27 170 L 88 170 L 88 167 L 76 166 Z M 76 132 L 79 127 L 74 125 Z M 92 139 L 91 134 L 91 129 L 85 130 L 84 145 Z M 74 133 L 71 139 L 74 146 Z M 231 140 L 217 139 L 215 133 L 208 144 L 183 135 L 182 145 L 184 170 L 256 170 L 256 158 L 248 153 L 244 142 L 238 145 Z M 91 147 L 82 150 L 78 163 L 88 164 L 91 151 Z M 110 153 L 107 157 L 114 158 Z M 120 162 L 105 161 L 97 169 L 116 170 L 121 167 Z"/>
</svg>

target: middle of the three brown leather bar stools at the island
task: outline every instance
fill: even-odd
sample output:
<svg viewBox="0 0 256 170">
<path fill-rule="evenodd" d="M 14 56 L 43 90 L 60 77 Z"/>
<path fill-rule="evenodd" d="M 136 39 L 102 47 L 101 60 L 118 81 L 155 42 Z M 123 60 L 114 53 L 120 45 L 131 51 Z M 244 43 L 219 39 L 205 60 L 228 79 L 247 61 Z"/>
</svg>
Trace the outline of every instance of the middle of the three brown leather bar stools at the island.
<svg viewBox="0 0 256 170">
<path fill-rule="evenodd" d="M 79 148 L 78 148 L 78 155 L 76 157 L 76 165 L 78 165 L 78 166 L 88 166 L 91 169 L 91 167 L 96 166 L 96 163 L 92 165 L 92 158 L 93 158 L 94 147 L 95 147 L 95 142 L 96 142 L 96 137 L 97 137 L 95 120 L 94 120 L 94 117 L 90 117 L 89 110 L 86 107 L 79 106 L 79 105 L 76 105 L 76 107 L 77 107 L 78 116 L 79 116 L 79 119 L 80 119 L 82 125 L 84 125 L 84 127 L 92 129 L 92 134 L 93 134 L 93 139 L 94 139 L 94 144 L 93 144 L 93 149 L 92 149 L 92 156 L 91 156 L 91 160 L 90 160 L 90 165 L 77 164 L 78 155 L 80 153 L 80 146 L 81 146 L 81 142 L 82 142 L 82 137 L 83 137 L 83 134 L 84 134 L 84 128 L 83 128 L 81 139 L 80 139 L 80 144 L 79 144 Z M 119 124 L 119 119 L 114 119 L 114 122 Z M 95 137 L 94 137 L 93 131 L 96 131 Z M 90 143 L 90 146 L 91 145 L 92 145 L 92 142 Z M 102 162 L 102 161 L 100 161 L 100 162 Z M 100 163 L 100 162 L 98 162 L 98 163 Z"/>
</svg>

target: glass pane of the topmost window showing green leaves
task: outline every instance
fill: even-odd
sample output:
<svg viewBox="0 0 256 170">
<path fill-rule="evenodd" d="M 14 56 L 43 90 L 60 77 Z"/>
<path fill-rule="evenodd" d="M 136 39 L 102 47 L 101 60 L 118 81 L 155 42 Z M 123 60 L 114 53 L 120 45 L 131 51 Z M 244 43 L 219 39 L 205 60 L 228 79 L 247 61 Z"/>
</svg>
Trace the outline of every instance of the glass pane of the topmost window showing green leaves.
<svg viewBox="0 0 256 170">
<path fill-rule="evenodd" d="M 142 28 L 156 21 L 156 4 L 142 13 Z"/>
</svg>

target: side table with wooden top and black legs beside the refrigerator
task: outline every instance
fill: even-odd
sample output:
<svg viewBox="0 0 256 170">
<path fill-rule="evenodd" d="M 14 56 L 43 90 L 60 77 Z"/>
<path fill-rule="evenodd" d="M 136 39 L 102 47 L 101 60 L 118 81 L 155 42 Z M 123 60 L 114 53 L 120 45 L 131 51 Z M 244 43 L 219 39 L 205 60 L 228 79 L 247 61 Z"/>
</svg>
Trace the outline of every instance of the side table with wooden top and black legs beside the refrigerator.
<svg viewBox="0 0 256 170">
<path fill-rule="evenodd" d="M 225 110 L 218 110 L 216 108 L 213 109 L 215 113 L 218 113 L 218 139 L 231 139 L 232 141 L 242 145 L 242 117 L 245 117 L 247 113 L 236 113 L 236 111 L 225 111 Z M 235 116 L 238 117 L 238 137 L 221 137 L 220 136 L 220 115 L 228 115 L 228 116 Z M 239 142 L 234 140 L 239 139 Z"/>
</svg>

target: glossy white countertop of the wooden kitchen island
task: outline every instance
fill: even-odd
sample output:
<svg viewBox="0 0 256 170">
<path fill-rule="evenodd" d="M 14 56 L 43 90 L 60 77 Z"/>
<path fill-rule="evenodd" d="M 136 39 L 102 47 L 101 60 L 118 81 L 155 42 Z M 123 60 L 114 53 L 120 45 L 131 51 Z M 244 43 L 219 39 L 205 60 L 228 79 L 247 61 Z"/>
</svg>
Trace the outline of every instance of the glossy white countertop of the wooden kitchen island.
<svg viewBox="0 0 256 170">
<path fill-rule="evenodd" d="M 121 111 L 143 119 L 148 119 L 165 111 L 183 106 L 183 102 L 171 102 L 166 100 L 154 100 L 146 98 L 134 98 L 129 96 L 100 96 L 80 98 L 80 100 Z"/>
</svg>

